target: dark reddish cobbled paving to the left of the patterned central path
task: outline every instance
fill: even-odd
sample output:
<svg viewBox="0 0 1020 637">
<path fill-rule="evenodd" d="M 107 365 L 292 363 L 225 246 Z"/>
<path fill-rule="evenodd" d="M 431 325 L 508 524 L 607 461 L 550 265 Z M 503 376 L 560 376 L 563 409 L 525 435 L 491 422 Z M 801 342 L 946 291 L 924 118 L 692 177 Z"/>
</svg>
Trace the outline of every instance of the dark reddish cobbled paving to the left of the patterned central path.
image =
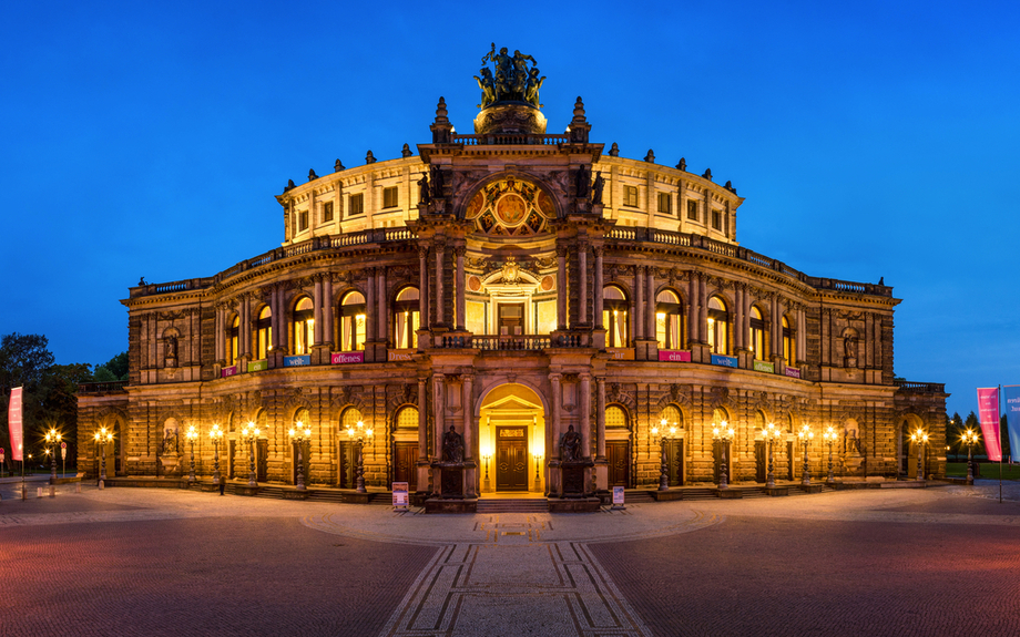
<svg viewBox="0 0 1020 637">
<path fill-rule="evenodd" d="M 295 518 L 0 530 L 0 635 L 375 635 L 434 547 Z"/>
</svg>

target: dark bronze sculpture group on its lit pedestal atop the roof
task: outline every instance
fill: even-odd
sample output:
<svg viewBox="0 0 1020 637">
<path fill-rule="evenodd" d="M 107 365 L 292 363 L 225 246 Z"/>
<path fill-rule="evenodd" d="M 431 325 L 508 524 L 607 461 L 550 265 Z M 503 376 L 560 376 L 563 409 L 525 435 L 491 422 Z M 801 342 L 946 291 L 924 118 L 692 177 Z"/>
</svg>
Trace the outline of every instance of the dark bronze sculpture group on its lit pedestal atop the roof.
<svg viewBox="0 0 1020 637">
<path fill-rule="evenodd" d="M 486 66 L 496 66 L 493 72 Z M 528 62 L 531 62 L 529 69 Z M 544 135 L 545 116 L 539 110 L 539 89 L 545 81 L 539 74 L 534 58 L 514 51 L 512 55 L 503 47 L 486 53 L 481 76 L 476 75 L 481 89 L 481 112 L 475 117 L 475 133 L 478 135 Z"/>
</svg>

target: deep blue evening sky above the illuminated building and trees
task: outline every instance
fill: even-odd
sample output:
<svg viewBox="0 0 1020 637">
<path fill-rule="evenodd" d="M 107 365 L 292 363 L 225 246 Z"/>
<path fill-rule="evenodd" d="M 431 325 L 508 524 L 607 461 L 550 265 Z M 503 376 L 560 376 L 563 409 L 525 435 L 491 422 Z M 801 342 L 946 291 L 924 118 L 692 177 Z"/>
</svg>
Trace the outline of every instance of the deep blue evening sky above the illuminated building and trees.
<svg viewBox="0 0 1020 637">
<path fill-rule="evenodd" d="M 336 158 L 468 132 L 490 43 L 533 55 L 550 132 L 681 156 L 747 198 L 737 239 L 877 282 L 896 373 L 1020 383 L 1020 3 L 8 2 L 0 333 L 128 348 L 118 302 L 283 240 L 274 195 Z"/>
</svg>

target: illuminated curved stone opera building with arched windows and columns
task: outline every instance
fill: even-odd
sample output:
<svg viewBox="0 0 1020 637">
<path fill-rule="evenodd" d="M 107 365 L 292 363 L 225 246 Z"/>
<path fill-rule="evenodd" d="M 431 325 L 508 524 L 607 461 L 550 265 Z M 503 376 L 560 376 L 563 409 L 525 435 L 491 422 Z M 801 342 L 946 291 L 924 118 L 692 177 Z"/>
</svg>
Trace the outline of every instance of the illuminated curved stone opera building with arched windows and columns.
<svg viewBox="0 0 1020 637">
<path fill-rule="evenodd" d="M 574 474 L 559 446 L 572 427 L 590 494 L 656 486 L 663 449 L 672 484 L 715 482 L 712 429 L 725 420 L 737 482 L 764 480 L 766 422 L 783 431 L 781 479 L 800 477 L 805 425 L 814 477 L 827 472 L 829 427 L 837 475 L 914 475 L 904 441 L 917 428 L 925 472 L 945 473 L 947 394 L 895 378 L 890 287 L 741 246 L 735 188 L 651 151 L 603 154 L 580 99 L 562 135 L 544 134 L 544 119 L 529 131 L 537 109 L 513 120 L 514 107 L 489 106 L 500 119 L 460 135 L 440 101 L 417 155 L 337 161 L 288 185 L 280 247 L 131 288 L 130 380 L 82 388 L 79 466 L 95 471 L 88 441 L 108 427 L 109 473 L 186 475 L 194 427 L 198 474 L 218 455 L 246 477 L 251 453 L 259 481 L 294 483 L 300 420 L 307 482 L 353 487 L 347 429 L 360 421 L 369 486 L 440 492 L 452 427 L 461 495 L 564 495 Z M 512 133 L 499 129 L 511 120 Z M 679 430 L 665 443 L 652 432 L 663 419 Z M 246 446 L 249 421 L 261 436 Z M 214 423 L 226 432 L 215 454 Z"/>
</svg>

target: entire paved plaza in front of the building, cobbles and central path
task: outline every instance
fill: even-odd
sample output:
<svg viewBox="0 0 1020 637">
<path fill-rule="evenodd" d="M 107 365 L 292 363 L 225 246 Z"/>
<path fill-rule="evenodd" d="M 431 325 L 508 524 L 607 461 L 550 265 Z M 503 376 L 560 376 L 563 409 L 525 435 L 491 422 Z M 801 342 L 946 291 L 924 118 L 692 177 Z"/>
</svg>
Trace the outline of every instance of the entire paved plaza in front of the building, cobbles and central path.
<svg viewBox="0 0 1020 637">
<path fill-rule="evenodd" d="M 14 489 L 3 636 L 1020 635 L 1016 484 L 494 515 Z"/>
</svg>

